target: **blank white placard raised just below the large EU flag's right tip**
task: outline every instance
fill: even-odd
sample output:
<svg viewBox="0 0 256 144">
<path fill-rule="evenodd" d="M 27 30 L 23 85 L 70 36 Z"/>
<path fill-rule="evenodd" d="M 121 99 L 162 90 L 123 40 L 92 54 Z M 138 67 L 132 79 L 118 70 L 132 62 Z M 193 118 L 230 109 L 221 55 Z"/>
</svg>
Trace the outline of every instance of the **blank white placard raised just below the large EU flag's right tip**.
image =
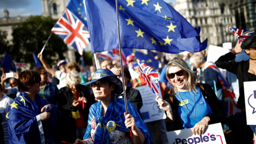
<svg viewBox="0 0 256 144">
<path fill-rule="evenodd" d="M 223 48 L 223 47 L 215 46 L 215 45 L 209 45 L 207 61 L 215 62 L 222 55 L 225 55 L 228 52 L 229 52 L 229 50 L 227 48 Z"/>
</svg>

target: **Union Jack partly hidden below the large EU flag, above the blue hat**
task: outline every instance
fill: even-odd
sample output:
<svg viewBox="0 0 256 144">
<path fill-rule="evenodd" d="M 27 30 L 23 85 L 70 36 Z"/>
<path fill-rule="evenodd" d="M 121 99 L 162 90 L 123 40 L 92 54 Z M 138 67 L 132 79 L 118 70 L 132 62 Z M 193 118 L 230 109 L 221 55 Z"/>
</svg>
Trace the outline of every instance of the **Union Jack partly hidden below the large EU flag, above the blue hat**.
<svg viewBox="0 0 256 144">
<path fill-rule="evenodd" d="M 97 53 L 97 55 L 101 59 L 109 59 L 111 61 L 116 60 L 119 63 L 119 65 L 121 65 L 120 53 L 119 53 L 118 49 L 109 50 L 109 51 L 107 51 L 107 53 L 106 52 L 100 52 L 100 53 Z M 126 66 L 126 59 L 125 58 L 126 58 L 125 54 L 122 51 L 122 60 L 123 60 L 123 65 L 124 66 Z"/>
</svg>

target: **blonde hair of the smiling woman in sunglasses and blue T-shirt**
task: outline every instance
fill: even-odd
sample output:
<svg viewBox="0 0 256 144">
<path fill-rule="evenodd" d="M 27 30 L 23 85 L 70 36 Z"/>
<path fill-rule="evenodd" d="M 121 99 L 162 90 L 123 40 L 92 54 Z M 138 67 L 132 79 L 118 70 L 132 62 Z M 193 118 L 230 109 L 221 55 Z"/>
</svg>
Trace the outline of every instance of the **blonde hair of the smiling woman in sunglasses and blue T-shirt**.
<svg viewBox="0 0 256 144">
<path fill-rule="evenodd" d="M 167 65 L 166 68 L 166 75 L 169 74 L 169 68 L 171 67 L 179 67 L 183 70 L 185 70 L 188 74 L 188 81 L 186 83 L 187 89 L 188 91 L 193 91 L 194 93 L 196 93 L 196 74 L 189 68 L 189 66 L 187 65 L 187 63 L 182 60 L 181 58 L 173 58 Z M 171 79 L 169 77 L 166 76 L 166 78 L 168 79 L 168 81 L 172 84 Z M 171 93 L 177 93 L 178 92 L 178 88 L 176 86 L 173 86 L 173 89 L 171 89 Z"/>
</svg>

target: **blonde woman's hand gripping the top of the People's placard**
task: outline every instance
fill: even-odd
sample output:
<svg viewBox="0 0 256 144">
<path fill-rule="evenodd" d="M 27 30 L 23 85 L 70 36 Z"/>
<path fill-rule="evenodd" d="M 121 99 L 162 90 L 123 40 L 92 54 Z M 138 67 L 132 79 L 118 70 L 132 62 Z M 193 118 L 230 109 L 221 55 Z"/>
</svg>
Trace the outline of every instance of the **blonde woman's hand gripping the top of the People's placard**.
<svg viewBox="0 0 256 144">
<path fill-rule="evenodd" d="M 200 122 L 198 122 L 192 129 L 194 135 L 202 135 L 210 122 L 210 117 L 205 116 Z"/>
</svg>

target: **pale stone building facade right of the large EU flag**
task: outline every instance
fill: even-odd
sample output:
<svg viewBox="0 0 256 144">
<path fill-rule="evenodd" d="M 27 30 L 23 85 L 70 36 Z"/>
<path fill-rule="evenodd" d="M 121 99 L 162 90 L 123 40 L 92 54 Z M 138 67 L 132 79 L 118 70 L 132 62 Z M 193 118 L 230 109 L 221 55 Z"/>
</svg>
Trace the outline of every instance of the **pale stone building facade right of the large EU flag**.
<svg viewBox="0 0 256 144">
<path fill-rule="evenodd" d="M 201 27 L 201 42 L 208 38 L 212 45 L 235 44 L 236 38 L 228 26 L 236 27 L 236 19 L 228 5 L 221 5 L 218 0 L 177 0 L 174 9 L 193 27 Z"/>
</svg>

